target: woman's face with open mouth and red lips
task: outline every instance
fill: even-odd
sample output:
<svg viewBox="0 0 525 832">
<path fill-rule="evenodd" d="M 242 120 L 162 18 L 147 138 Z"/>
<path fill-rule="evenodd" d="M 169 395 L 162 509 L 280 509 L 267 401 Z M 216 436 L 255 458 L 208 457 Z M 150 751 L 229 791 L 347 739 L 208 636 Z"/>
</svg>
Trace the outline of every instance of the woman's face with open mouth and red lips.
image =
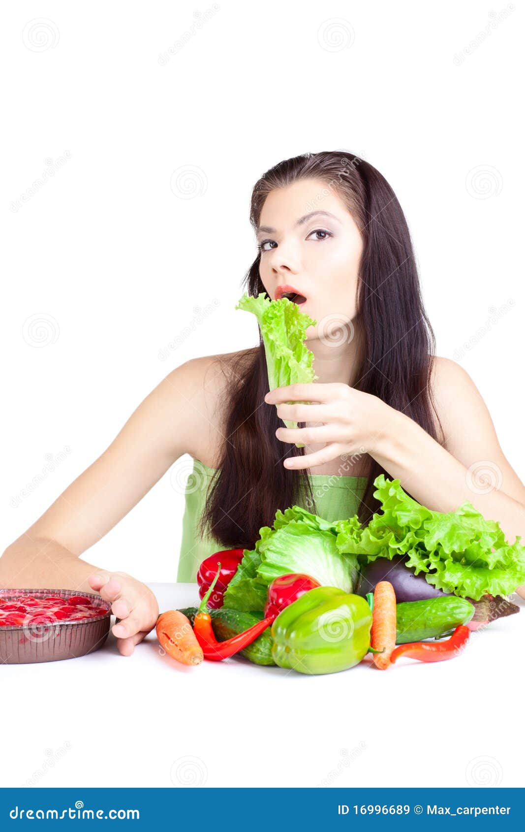
<svg viewBox="0 0 525 832">
<path fill-rule="evenodd" d="M 333 188 L 304 179 L 271 191 L 260 214 L 257 243 L 260 279 L 271 300 L 288 285 L 305 296 L 300 310 L 318 327 L 324 320 L 354 319 L 363 240 Z M 316 334 L 309 327 L 307 339 Z"/>
</svg>

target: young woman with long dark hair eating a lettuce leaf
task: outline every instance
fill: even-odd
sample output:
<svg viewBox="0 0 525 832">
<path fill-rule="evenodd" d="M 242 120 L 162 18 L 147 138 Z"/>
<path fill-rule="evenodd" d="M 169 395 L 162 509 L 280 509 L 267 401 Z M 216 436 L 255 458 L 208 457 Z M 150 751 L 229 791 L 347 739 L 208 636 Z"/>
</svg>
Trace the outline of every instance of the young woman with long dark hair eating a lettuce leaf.
<svg viewBox="0 0 525 832">
<path fill-rule="evenodd" d="M 0 586 L 100 592 L 121 619 L 113 632 L 124 656 L 155 626 L 156 598 L 78 556 L 183 453 L 195 464 L 180 581 L 195 580 L 210 552 L 253 547 L 278 508 L 365 521 L 381 472 L 428 508 L 469 500 L 510 541 L 525 537 L 525 488 L 478 389 L 458 364 L 433 357 L 409 230 L 379 171 L 342 152 L 285 160 L 256 183 L 250 221 L 258 254 L 248 293 L 290 292 L 317 321 L 306 338 L 315 384 L 269 393 L 262 341 L 187 361 L 0 558 Z"/>
</svg>

